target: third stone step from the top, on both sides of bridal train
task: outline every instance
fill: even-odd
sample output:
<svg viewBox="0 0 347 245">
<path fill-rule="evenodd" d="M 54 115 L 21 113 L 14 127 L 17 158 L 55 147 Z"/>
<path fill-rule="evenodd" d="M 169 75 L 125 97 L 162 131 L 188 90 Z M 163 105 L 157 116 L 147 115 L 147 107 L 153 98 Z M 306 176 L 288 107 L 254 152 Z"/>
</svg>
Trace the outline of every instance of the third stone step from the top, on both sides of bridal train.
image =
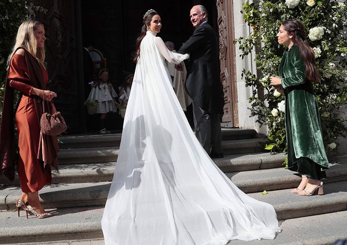
<svg viewBox="0 0 347 245">
<path fill-rule="evenodd" d="M 224 172 L 249 171 L 282 167 L 285 155 L 253 153 L 248 155 L 227 155 L 213 159 Z M 112 181 L 116 162 L 61 165 L 59 171 L 52 171 L 52 184 Z M 18 175 L 10 182 L 0 175 L 1 184 L 19 185 Z"/>
</svg>

